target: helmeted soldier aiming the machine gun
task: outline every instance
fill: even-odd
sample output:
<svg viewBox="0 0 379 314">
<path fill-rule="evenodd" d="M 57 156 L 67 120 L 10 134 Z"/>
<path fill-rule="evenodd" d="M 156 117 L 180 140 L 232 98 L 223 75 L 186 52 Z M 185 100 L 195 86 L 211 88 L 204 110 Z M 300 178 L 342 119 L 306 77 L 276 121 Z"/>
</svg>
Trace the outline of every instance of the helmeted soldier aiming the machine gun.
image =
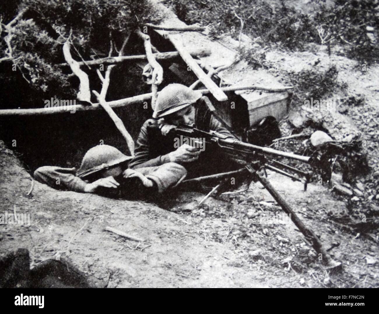
<svg viewBox="0 0 379 314">
<path fill-rule="evenodd" d="M 200 92 L 193 91 L 182 84 L 169 84 L 164 87 L 159 92 L 155 108 L 153 108 L 154 119 L 147 120 L 141 127 L 135 157 L 129 167 L 139 169 L 174 162 L 187 169 L 188 177 L 225 169 L 222 162 L 215 163 L 217 156 L 212 156 L 212 152 L 207 151 L 206 148 L 204 152 L 201 152 L 203 157 L 201 158 L 198 148 L 188 144 L 174 148 L 171 139 L 167 136 L 175 126 L 190 125 L 200 130 L 213 130 L 226 137 L 233 137 L 212 116 L 204 104 L 205 98 Z M 200 160 L 197 161 L 199 157 Z"/>
</svg>

